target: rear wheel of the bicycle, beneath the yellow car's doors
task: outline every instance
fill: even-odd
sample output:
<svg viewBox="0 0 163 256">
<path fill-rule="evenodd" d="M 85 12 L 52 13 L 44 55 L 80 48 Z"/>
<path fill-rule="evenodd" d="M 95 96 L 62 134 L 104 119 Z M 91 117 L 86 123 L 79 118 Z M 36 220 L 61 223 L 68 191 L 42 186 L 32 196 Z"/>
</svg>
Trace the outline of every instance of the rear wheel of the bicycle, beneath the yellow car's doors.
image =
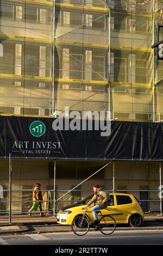
<svg viewBox="0 0 163 256">
<path fill-rule="evenodd" d="M 99 220 L 99 230 L 104 235 L 111 235 L 116 229 L 116 222 L 114 218 L 109 215 L 104 215 Z"/>
</svg>

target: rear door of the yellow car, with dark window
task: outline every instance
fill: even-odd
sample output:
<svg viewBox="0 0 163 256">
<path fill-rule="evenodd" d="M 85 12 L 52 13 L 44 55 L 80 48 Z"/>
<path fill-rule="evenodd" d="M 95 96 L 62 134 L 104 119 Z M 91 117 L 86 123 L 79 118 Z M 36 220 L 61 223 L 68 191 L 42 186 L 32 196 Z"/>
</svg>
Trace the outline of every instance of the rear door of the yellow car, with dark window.
<svg viewBox="0 0 163 256">
<path fill-rule="evenodd" d="M 133 201 L 129 195 L 116 194 L 117 201 L 117 222 L 127 222 L 128 217 L 131 215 L 133 209 Z"/>
</svg>

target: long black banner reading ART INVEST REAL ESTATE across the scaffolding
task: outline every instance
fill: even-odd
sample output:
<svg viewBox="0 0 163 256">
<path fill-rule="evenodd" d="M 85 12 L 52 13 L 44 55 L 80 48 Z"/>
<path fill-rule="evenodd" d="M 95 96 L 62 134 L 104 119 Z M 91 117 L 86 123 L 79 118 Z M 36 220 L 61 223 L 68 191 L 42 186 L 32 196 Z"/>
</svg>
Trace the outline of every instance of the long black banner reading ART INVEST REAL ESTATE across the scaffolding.
<svg viewBox="0 0 163 256">
<path fill-rule="evenodd" d="M 0 157 L 162 160 L 162 123 L 111 121 L 101 130 L 53 130 L 54 118 L 0 117 Z M 71 120 L 69 120 L 71 122 Z M 82 123 L 82 121 L 80 121 Z"/>
</svg>

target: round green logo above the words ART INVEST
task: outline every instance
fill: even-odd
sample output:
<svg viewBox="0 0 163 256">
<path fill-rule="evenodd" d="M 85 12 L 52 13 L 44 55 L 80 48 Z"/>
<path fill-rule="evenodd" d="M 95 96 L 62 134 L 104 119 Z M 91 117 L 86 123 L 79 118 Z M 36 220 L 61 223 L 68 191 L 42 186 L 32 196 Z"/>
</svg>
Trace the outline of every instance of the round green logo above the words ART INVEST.
<svg viewBox="0 0 163 256">
<path fill-rule="evenodd" d="M 46 132 L 46 127 L 41 121 L 34 121 L 30 124 L 29 131 L 33 136 L 41 137 Z"/>
</svg>

